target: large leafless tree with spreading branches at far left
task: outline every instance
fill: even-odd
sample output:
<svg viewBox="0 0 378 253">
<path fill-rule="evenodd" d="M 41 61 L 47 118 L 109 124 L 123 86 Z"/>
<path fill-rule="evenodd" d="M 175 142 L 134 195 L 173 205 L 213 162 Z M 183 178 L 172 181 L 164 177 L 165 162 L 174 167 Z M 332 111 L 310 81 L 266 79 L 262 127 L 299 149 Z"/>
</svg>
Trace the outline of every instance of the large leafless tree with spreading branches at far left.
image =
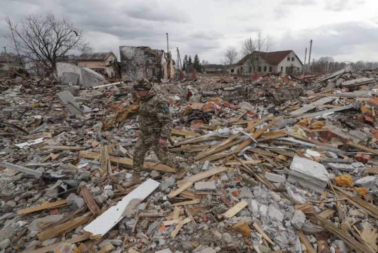
<svg viewBox="0 0 378 253">
<path fill-rule="evenodd" d="M 83 30 L 75 28 L 68 17 L 58 20 L 51 12 L 45 17 L 25 16 L 20 27 L 9 17 L 6 22 L 10 31 L 6 37 L 15 48 L 47 68 L 55 69 L 56 62 L 66 59 L 70 51 L 87 45 Z"/>
</svg>

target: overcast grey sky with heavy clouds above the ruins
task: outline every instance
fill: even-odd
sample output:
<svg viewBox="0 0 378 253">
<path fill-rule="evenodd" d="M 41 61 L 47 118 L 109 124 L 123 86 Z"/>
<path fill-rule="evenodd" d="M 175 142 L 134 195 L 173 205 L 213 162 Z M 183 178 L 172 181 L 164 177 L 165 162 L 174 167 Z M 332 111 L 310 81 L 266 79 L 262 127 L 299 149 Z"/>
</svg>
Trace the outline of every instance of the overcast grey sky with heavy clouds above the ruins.
<svg viewBox="0 0 378 253">
<path fill-rule="evenodd" d="M 168 33 L 169 49 L 178 47 L 181 57 L 197 53 L 220 64 L 227 46 L 239 59 L 242 41 L 261 30 L 273 37 L 274 51 L 292 49 L 302 61 L 310 39 L 311 59 L 378 61 L 377 0 L 0 0 L 0 6 L 1 47 L 9 46 L 6 16 L 20 22 L 52 11 L 84 29 L 94 51 L 117 56 L 120 45 L 166 50 Z"/>
</svg>

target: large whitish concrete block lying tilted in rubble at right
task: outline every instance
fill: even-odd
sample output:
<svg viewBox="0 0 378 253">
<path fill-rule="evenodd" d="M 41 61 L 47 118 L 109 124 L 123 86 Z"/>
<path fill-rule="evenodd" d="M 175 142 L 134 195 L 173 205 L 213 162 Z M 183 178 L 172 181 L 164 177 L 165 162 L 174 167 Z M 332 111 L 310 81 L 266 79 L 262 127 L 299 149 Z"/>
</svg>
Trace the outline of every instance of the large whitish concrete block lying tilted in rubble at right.
<svg viewBox="0 0 378 253">
<path fill-rule="evenodd" d="M 329 173 L 323 164 L 307 158 L 294 156 L 290 164 L 290 174 L 287 180 L 297 182 L 303 187 L 323 193 L 328 184 Z"/>
</svg>

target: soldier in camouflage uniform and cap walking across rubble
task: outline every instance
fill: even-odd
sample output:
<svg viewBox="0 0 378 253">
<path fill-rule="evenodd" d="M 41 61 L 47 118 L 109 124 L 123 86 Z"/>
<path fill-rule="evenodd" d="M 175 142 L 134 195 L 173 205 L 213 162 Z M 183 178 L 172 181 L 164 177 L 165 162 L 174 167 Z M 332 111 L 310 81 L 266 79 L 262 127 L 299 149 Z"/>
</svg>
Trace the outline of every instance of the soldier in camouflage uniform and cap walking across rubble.
<svg viewBox="0 0 378 253">
<path fill-rule="evenodd" d="M 140 97 L 139 128 L 141 133 L 134 149 L 133 176 L 129 182 L 122 183 L 122 186 L 130 187 L 141 183 L 140 171 L 143 168 L 146 152 L 150 148 L 162 164 L 176 168 L 175 178 L 181 179 L 188 169 L 168 152 L 166 145 L 173 127 L 168 102 L 161 94 L 160 88 L 157 85 L 152 86 L 146 78 L 139 78 L 133 87 Z"/>
</svg>

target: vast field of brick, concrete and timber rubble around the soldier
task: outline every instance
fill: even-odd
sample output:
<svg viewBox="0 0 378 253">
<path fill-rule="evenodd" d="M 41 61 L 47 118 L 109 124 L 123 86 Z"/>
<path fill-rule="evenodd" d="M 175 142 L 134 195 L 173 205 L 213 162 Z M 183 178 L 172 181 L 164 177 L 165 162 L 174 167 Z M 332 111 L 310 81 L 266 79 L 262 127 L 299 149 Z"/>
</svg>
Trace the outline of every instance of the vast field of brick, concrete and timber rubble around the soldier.
<svg viewBox="0 0 378 253">
<path fill-rule="evenodd" d="M 0 80 L 0 252 L 376 252 L 374 71 L 166 81 L 169 150 L 133 172 L 130 84 Z"/>
</svg>

